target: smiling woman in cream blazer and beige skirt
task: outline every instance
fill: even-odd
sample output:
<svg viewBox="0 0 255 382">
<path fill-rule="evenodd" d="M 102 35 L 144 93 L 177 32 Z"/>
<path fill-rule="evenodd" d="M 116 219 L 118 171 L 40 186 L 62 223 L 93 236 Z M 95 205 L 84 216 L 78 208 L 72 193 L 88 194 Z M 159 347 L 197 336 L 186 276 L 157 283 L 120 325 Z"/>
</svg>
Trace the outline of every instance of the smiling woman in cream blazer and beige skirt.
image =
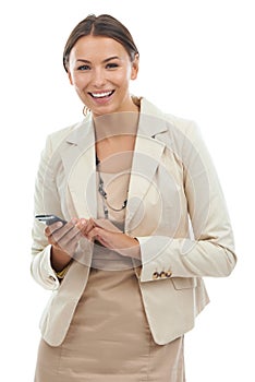
<svg viewBox="0 0 255 382">
<path fill-rule="evenodd" d="M 203 276 L 235 265 L 231 225 L 195 124 L 130 94 L 138 50 L 110 15 L 71 33 L 64 69 L 85 119 L 41 156 L 32 274 L 52 297 L 36 382 L 185 381 L 183 336 Z"/>
</svg>

